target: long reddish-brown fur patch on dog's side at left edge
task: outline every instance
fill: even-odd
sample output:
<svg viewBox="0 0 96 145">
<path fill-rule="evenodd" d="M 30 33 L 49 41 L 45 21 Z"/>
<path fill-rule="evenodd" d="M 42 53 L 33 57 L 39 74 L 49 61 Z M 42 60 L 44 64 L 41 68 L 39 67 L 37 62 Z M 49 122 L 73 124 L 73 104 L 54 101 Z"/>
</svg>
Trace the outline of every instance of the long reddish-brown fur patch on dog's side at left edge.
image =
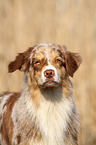
<svg viewBox="0 0 96 145">
<path fill-rule="evenodd" d="M 4 137 L 7 145 L 11 145 L 12 143 L 13 122 L 11 118 L 11 113 L 12 113 L 14 103 L 18 99 L 19 95 L 20 93 L 14 93 L 10 96 L 10 98 L 8 98 L 6 102 L 7 109 L 6 109 L 6 112 L 4 112 L 3 114 L 3 121 L 2 121 L 0 132 L 2 136 Z"/>
</svg>

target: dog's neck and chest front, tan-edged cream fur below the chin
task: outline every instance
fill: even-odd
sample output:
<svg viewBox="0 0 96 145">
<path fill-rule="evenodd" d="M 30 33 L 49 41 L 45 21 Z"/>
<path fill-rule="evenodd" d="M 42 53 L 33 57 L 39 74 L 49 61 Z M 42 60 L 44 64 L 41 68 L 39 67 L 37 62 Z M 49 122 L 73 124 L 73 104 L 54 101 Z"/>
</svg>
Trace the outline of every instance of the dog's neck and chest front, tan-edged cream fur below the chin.
<svg viewBox="0 0 96 145">
<path fill-rule="evenodd" d="M 58 88 L 41 89 L 26 83 L 27 86 L 23 91 L 30 117 L 36 119 L 38 124 L 36 128 L 47 145 L 64 145 L 64 136 L 74 108 L 74 104 L 70 101 L 72 98 L 69 98 L 72 93 L 69 91 L 69 84 L 67 88 L 63 85 Z"/>
</svg>

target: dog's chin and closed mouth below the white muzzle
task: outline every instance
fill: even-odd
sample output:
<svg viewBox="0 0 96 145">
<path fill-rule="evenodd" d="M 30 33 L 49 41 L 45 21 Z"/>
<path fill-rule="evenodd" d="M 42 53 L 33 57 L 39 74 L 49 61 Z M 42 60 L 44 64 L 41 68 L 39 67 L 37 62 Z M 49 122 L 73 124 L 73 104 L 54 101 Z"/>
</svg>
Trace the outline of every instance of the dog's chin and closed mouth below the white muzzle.
<svg viewBox="0 0 96 145">
<path fill-rule="evenodd" d="M 59 87 L 59 82 L 56 82 L 54 80 L 47 80 L 42 85 L 40 85 L 41 88 L 57 88 Z"/>
</svg>

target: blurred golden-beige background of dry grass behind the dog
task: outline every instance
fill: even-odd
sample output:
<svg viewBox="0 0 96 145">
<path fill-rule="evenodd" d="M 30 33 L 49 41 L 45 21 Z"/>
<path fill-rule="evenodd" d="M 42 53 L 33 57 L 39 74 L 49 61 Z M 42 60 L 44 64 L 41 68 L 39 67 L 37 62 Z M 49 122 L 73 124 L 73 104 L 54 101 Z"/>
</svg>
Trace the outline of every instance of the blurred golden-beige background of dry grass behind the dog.
<svg viewBox="0 0 96 145">
<path fill-rule="evenodd" d="M 66 45 L 82 56 L 71 78 L 79 145 L 96 145 L 96 0 L 0 0 L 0 92 L 22 89 L 23 73 L 8 74 L 8 63 L 43 42 Z"/>
</svg>

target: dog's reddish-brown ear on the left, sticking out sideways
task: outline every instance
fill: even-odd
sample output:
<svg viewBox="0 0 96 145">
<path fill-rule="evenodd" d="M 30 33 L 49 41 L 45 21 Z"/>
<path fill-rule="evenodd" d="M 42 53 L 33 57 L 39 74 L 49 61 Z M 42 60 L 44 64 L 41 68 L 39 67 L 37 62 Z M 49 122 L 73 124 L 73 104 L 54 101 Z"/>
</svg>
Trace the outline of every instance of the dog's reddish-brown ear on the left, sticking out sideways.
<svg viewBox="0 0 96 145">
<path fill-rule="evenodd" d="M 30 59 L 29 56 L 33 50 L 33 47 L 30 47 L 27 51 L 24 53 L 19 53 L 18 56 L 16 56 L 15 60 L 10 62 L 8 65 L 8 71 L 14 72 L 17 69 L 21 71 L 28 71 L 29 70 L 29 65 L 30 65 Z"/>
</svg>

